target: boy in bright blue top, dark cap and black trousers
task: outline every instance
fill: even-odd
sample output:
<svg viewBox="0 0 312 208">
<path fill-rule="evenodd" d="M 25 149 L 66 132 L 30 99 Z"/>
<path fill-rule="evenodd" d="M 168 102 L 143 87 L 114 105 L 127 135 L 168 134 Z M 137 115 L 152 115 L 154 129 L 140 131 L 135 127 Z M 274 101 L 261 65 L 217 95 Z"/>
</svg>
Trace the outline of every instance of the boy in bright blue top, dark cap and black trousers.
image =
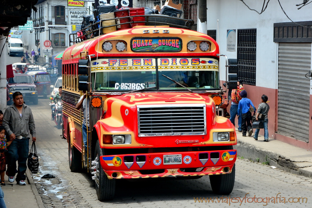
<svg viewBox="0 0 312 208">
<path fill-rule="evenodd" d="M 238 103 L 237 114 L 241 114 L 241 130 L 243 131 L 243 137 L 246 137 L 246 132 L 248 131 L 248 136 L 252 134 L 251 125 L 251 112 L 250 106 L 256 111 L 255 106 L 252 104 L 251 100 L 247 98 L 246 90 L 241 91 L 241 100 Z"/>
</svg>

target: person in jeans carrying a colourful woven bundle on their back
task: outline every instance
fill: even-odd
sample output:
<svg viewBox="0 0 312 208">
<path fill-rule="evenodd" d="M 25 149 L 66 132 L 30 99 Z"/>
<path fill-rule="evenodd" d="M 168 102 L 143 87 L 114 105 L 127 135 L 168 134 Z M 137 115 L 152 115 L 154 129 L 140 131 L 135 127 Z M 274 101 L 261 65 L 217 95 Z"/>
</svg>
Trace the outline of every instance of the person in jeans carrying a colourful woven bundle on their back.
<svg viewBox="0 0 312 208">
<path fill-rule="evenodd" d="M 243 85 L 241 84 L 241 80 L 237 81 L 237 89 L 232 89 L 231 92 L 231 108 L 230 108 L 230 121 L 233 123 L 235 126 L 235 117 L 237 115 L 238 118 L 238 131 L 242 132 L 241 130 L 241 116 L 238 116 L 237 114 L 237 109 L 238 109 L 238 103 L 241 100 L 241 91 L 244 90 Z"/>
</svg>

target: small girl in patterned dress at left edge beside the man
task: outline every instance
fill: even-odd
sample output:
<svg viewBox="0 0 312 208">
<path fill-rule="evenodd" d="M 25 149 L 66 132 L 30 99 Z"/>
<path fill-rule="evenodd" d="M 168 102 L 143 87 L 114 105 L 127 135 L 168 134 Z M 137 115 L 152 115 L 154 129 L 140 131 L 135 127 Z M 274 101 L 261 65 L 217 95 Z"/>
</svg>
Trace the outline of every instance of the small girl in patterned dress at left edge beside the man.
<svg viewBox="0 0 312 208">
<path fill-rule="evenodd" d="M 4 182 L 4 173 L 6 170 L 5 152 L 7 151 L 7 146 L 9 146 L 11 143 L 12 141 L 7 142 L 7 139 L 5 138 L 4 126 L 0 126 L 0 177 L 1 177 L 0 184 L 1 186 L 5 186 L 5 182 Z"/>
</svg>

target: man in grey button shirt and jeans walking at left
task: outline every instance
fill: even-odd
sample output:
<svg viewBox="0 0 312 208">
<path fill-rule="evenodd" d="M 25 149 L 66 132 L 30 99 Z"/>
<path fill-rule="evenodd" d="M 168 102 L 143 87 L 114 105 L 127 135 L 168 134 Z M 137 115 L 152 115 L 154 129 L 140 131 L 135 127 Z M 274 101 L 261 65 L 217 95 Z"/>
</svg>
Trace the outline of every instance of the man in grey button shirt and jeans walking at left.
<svg viewBox="0 0 312 208">
<path fill-rule="evenodd" d="M 7 148 L 7 176 L 8 181 L 13 183 L 15 174 L 17 184 L 26 185 L 26 161 L 29 152 L 29 139 L 36 142 L 35 121 L 32 115 L 32 110 L 24 104 L 23 95 L 21 92 L 13 93 L 13 104 L 10 105 L 4 112 L 3 126 L 9 138 L 12 141 Z M 16 161 L 18 167 L 16 170 Z"/>
</svg>

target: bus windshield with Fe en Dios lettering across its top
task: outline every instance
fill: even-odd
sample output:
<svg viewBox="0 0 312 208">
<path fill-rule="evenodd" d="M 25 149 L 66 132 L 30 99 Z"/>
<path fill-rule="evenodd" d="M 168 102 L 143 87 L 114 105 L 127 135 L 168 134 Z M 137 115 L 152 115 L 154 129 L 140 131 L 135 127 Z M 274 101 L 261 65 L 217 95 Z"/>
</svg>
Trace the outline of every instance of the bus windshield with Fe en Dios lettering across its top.
<svg viewBox="0 0 312 208">
<path fill-rule="evenodd" d="M 212 58 L 100 59 L 92 65 L 93 90 L 185 90 L 165 76 L 190 89 L 219 89 L 218 62 Z"/>
</svg>

